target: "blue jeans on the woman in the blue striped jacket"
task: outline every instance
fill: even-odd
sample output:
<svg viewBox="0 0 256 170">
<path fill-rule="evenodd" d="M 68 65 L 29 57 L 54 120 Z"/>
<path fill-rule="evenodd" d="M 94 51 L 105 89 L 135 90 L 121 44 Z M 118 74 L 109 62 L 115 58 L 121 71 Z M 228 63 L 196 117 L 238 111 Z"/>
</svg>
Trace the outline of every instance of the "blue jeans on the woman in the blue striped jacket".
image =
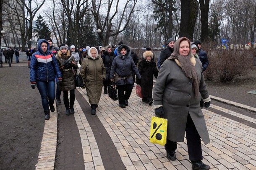
<svg viewBox="0 0 256 170">
<path fill-rule="evenodd" d="M 49 105 L 53 105 L 55 100 L 55 81 L 43 82 L 37 80 L 37 88 L 42 98 L 44 111 L 49 111 Z"/>
</svg>

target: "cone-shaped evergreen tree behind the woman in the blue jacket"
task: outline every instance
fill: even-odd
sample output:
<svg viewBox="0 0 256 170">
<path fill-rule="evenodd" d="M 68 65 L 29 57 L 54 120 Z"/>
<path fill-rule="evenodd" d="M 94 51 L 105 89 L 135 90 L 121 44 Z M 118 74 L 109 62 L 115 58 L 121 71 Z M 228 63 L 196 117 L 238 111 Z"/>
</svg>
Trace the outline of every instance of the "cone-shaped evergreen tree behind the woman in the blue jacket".
<svg viewBox="0 0 256 170">
<path fill-rule="evenodd" d="M 37 41 L 51 36 L 51 31 L 40 14 L 37 16 L 37 20 L 35 22 L 36 26 L 34 26 L 34 33 L 36 33 L 35 35 L 38 38 Z"/>
</svg>

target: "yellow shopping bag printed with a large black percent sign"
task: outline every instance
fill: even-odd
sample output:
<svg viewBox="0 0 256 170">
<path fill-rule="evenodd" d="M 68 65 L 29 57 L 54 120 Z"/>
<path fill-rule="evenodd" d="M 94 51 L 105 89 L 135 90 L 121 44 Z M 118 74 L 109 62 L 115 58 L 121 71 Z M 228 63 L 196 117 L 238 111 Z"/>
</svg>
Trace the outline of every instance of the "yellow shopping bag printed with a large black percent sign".
<svg viewBox="0 0 256 170">
<path fill-rule="evenodd" d="M 167 137 L 167 119 L 153 116 L 151 119 L 149 140 L 153 144 L 166 144 Z"/>
</svg>

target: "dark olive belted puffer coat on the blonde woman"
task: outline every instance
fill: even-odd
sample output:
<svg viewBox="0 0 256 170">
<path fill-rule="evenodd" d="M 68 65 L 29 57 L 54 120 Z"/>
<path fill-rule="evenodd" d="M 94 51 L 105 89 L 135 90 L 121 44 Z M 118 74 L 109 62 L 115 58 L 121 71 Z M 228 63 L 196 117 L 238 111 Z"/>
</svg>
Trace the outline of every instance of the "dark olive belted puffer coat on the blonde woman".
<svg viewBox="0 0 256 170">
<path fill-rule="evenodd" d="M 72 70 L 72 68 L 74 70 L 76 70 L 78 68 L 76 61 L 74 59 L 73 56 L 68 56 L 66 55 L 65 57 L 61 56 L 61 51 L 59 51 L 56 54 L 56 60 L 57 63 L 60 67 L 60 71 L 62 73 L 62 82 L 59 84 L 59 90 L 61 91 L 69 91 L 69 90 L 73 90 L 76 89 L 76 83 L 75 83 L 75 74 L 74 71 Z M 72 61 L 73 63 L 71 63 L 71 67 L 69 68 L 63 68 L 63 62 L 65 61 Z"/>
</svg>

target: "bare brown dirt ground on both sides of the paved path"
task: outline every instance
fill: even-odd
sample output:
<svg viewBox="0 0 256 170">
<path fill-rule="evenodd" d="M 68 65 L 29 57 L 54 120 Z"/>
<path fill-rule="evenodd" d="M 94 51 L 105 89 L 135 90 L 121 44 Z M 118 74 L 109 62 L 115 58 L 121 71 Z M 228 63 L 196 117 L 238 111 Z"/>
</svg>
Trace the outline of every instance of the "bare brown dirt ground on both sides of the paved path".
<svg viewBox="0 0 256 170">
<path fill-rule="evenodd" d="M 33 170 L 44 130 L 44 113 L 39 92 L 30 87 L 29 68 L 0 68 L 0 170 Z M 209 94 L 256 107 L 255 69 L 239 82 L 206 81 Z"/>
</svg>

